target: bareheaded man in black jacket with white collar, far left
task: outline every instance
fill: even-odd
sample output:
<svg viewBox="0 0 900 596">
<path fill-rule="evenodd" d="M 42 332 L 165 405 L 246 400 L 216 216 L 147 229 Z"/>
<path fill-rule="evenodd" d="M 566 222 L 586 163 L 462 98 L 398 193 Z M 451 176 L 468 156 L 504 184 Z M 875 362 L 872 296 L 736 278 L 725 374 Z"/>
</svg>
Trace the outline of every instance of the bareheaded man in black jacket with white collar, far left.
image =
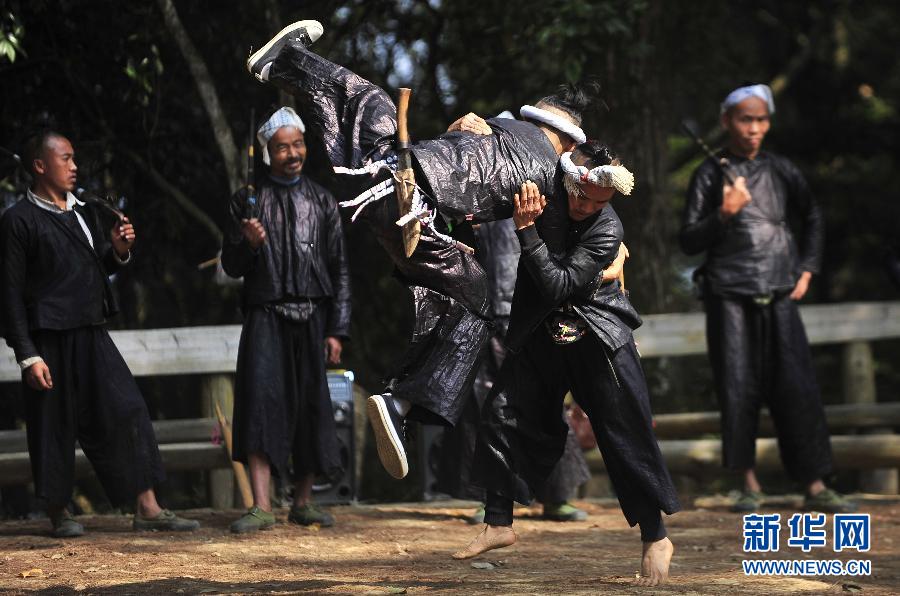
<svg viewBox="0 0 900 596">
<path fill-rule="evenodd" d="M 75 441 L 110 501 L 136 499 L 137 530 L 194 530 L 160 508 L 164 473 L 147 406 L 106 332 L 117 312 L 109 274 L 130 261 L 134 227 L 107 234 L 92 205 L 78 201 L 75 151 L 53 131 L 25 143 L 34 182 L 0 222 L 6 342 L 22 368 L 28 452 L 37 497 L 53 533 L 80 536 L 67 509 L 75 480 Z"/>
</svg>

